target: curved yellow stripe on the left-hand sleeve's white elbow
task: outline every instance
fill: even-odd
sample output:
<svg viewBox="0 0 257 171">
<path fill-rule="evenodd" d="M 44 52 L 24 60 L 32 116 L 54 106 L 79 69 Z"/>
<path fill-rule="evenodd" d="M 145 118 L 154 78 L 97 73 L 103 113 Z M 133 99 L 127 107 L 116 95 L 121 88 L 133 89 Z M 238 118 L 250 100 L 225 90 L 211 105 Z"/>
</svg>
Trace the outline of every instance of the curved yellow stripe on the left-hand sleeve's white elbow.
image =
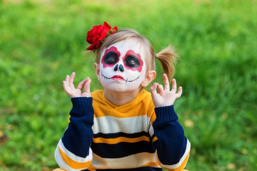
<svg viewBox="0 0 257 171">
<path fill-rule="evenodd" d="M 73 169 L 81 169 L 81 168 L 88 168 L 92 162 L 92 160 L 85 162 L 85 163 L 79 163 L 74 160 L 72 160 L 68 155 L 66 155 L 60 148 L 59 152 L 63 158 L 63 161 L 69 165 Z"/>
</svg>

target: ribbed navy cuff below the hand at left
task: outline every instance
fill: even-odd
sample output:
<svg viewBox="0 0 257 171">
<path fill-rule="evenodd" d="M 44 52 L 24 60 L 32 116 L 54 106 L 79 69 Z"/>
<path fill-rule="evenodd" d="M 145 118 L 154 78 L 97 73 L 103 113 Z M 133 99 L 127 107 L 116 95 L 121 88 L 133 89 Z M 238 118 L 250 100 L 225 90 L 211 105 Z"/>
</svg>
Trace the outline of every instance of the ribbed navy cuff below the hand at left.
<svg viewBox="0 0 257 171">
<path fill-rule="evenodd" d="M 92 97 L 74 97 L 71 98 L 72 102 L 72 108 L 80 111 L 83 109 L 93 109 L 92 103 L 93 103 L 93 98 Z"/>
</svg>

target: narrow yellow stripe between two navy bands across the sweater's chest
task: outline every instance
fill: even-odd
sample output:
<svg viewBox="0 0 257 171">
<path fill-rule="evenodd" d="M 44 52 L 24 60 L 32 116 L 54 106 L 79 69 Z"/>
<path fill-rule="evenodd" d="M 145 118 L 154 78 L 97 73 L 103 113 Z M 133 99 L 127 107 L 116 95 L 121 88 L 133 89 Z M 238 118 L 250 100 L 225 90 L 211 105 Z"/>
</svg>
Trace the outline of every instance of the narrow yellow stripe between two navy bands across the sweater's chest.
<svg viewBox="0 0 257 171">
<path fill-rule="evenodd" d="M 127 138 L 127 137 L 117 137 L 117 138 L 93 138 L 94 143 L 106 143 L 106 144 L 117 144 L 121 142 L 125 143 L 136 143 L 140 141 L 150 141 L 150 138 L 147 136 L 140 136 L 137 138 Z"/>
</svg>

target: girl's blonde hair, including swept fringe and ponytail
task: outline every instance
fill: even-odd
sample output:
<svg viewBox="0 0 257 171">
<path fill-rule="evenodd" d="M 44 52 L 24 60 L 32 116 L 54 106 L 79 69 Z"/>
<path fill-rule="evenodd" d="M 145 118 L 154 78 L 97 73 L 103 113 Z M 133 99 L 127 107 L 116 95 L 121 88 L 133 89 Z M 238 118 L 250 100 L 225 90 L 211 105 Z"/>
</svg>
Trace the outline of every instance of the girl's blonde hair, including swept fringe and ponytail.
<svg viewBox="0 0 257 171">
<path fill-rule="evenodd" d="M 148 72 L 150 70 L 155 70 L 155 58 L 157 58 L 162 64 L 164 73 L 167 74 L 169 81 L 171 81 L 171 78 L 175 73 L 175 64 L 178 58 L 178 55 L 174 53 L 174 49 L 172 48 L 172 46 L 167 46 L 155 55 L 154 48 L 151 43 L 133 29 L 121 29 L 115 32 L 113 35 L 107 37 L 96 50 L 95 63 L 99 64 L 101 53 L 105 48 L 109 47 L 114 43 L 124 41 L 130 38 L 138 40 L 139 43 L 141 43 L 144 47 L 144 52 L 146 55 L 146 71 Z"/>
</svg>

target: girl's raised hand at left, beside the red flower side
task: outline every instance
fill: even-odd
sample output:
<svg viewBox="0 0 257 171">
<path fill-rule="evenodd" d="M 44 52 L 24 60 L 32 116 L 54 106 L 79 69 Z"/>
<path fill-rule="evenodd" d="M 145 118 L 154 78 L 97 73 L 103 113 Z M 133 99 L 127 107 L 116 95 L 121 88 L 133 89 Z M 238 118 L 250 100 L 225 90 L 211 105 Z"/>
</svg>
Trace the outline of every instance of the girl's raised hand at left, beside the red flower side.
<svg viewBox="0 0 257 171">
<path fill-rule="evenodd" d="M 91 97 L 91 92 L 90 92 L 90 83 L 91 79 L 86 78 L 82 80 L 77 88 L 74 87 L 73 85 L 73 80 L 75 77 L 75 72 L 72 72 L 72 74 L 69 76 L 66 76 L 65 81 L 63 81 L 63 89 L 64 91 L 71 97 Z M 82 89 L 84 87 L 84 92 L 82 92 Z"/>
</svg>

